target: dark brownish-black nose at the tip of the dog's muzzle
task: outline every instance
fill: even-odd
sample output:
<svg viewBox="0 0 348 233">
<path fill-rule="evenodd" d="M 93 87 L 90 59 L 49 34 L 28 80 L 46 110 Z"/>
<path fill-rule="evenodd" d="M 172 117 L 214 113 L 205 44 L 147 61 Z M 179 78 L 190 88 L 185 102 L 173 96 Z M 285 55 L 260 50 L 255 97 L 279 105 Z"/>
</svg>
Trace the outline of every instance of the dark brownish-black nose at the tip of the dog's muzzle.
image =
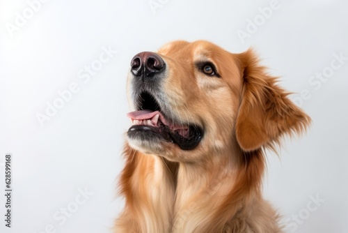
<svg viewBox="0 0 348 233">
<path fill-rule="evenodd" d="M 140 52 L 131 61 L 131 71 L 137 76 L 151 77 L 164 70 L 166 63 L 155 52 Z"/>
</svg>

